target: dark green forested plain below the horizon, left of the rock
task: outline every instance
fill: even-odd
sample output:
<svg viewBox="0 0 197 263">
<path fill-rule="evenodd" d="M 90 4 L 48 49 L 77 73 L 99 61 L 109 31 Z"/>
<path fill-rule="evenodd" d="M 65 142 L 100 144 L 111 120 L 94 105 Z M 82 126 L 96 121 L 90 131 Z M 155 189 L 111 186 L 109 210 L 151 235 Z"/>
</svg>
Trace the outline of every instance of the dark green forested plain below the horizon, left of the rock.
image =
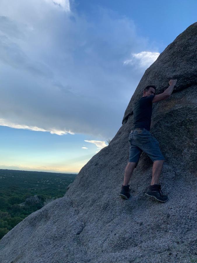
<svg viewBox="0 0 197 263">
<path fill-rule="evenodd" d="M 76 175 L 0 169 L 0 239 L 29 214 L 63 197 Z"/>
</svg>

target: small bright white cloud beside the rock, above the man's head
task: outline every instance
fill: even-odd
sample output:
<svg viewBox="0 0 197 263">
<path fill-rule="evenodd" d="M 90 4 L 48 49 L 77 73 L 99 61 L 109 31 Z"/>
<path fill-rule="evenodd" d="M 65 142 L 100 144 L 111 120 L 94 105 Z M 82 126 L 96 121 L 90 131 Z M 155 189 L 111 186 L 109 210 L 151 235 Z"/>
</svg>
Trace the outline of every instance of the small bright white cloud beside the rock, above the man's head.
<svg viewBox="0 0 197 263">
<path fill-rule="evenodd" d="M 133 53 L 131 54 L 132 58 L 125 60 L 124 65 L 135 65 L 141 68 L 148 68 L 155 60 L 158 58 L 160 53 L 158 52 L 149 52 L 149 51 L 142 51 L 140 53 Z"/>
</svg>

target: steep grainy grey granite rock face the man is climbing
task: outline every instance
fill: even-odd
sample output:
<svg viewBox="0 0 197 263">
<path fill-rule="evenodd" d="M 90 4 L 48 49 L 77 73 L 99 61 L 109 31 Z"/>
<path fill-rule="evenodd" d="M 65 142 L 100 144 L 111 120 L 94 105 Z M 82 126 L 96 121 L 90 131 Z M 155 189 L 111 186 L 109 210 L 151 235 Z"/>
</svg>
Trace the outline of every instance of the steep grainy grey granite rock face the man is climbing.
<svg viewBox="0 0 197 263">
<path fill-rule="evenodd" d="M 109 145 L 81 169 L 63 198 L 32 213 L 0 242 L 0 262 L 194 262 L 196 197 L 197 23 L 180 34 L 146 70 Z M 165 156 L 160 183 L 166 203 L 144 195 L 152 162 L 142 154 L 130 181 L 131 198 L 118 193 L 129 157 L 133 104 L 148 84 L 157 94 L 151 133 Z"/>
</svg>

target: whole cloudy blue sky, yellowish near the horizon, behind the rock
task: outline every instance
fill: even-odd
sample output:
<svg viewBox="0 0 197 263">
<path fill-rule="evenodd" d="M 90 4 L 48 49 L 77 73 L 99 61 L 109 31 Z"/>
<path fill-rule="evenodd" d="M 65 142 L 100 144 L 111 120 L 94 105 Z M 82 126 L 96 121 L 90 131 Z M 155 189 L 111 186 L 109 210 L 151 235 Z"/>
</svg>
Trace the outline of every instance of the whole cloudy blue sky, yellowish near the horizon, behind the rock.
<svg viewBox="0 0 197 263">
<path fill-rule="evenodd" d="M 78 173 L 196 10 L 194 0 L 0 0 L 0 169 Z"/>
</svg>

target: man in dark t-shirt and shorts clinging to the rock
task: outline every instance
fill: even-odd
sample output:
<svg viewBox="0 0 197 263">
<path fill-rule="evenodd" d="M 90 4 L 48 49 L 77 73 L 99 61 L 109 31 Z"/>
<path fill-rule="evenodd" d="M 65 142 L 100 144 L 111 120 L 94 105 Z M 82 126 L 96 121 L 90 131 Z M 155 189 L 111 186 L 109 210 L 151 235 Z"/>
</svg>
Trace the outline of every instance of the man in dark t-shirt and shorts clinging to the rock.
<svg viewBox="0 0 197 263">
<path fill-rule="evenodd" d="M 170 86 L 168 89 L 158 95 L 156 95 L 156 87 L 154 85 L 146 86 L 143 91 L 143 97 L 136 101 L 134 105 L 133 130 L 129 134 L 129 162 L 125 168 L 124 182 L 121 192 L 119 193 L 119 196 L 124 199 L 128 199 L 130 197 L 130 188 L 128 183 L 134 168 L 137 167 L 140 155 L 142 151 L 144 151 L 153 161 L 152 181 L 145 194 L 153 196 L 156 200 L 161 202 L 166 202 L 168 200 L 168 196 L 162 194 L 161 185 L 158 184 L 158 179 L 161 174 L 165 158 L 160 151 L 158 141 L 149 131 L 151 126 L 152 103 L 169 98 L 176 83 L 177 79 L 170 79 Z"/>
</svg>

